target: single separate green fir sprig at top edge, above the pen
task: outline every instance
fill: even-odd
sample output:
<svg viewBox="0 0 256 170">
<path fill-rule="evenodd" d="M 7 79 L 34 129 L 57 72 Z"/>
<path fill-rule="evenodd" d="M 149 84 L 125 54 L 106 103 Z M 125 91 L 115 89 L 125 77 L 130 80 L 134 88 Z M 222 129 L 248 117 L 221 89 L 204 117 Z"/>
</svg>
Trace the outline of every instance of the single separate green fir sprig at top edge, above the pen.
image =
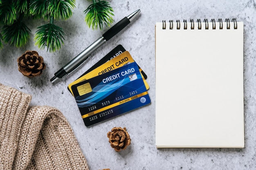
<svg viewBox="0 0 256 170">
<path fill-rule="evenodd" d="M 103 28 L 103 24 L 107 27 L 114 21 L 112 16 L 114 16 L 114 10 L 110 6 L 110 4 L 106 1 L 96 2 L 96 0 L 92 0 L 93 4 L 91 4 L 84 12 L 85 22 L 89 26 L 92 26 L 92 29 Z"/>
</svg>

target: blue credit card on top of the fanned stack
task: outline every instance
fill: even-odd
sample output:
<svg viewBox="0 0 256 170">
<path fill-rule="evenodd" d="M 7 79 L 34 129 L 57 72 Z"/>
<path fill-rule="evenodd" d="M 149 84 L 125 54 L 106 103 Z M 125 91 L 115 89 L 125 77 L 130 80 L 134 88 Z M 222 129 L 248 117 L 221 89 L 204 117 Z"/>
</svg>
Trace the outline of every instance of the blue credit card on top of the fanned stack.
<svg viewBox="0 0 256 170">
<path fill-rule="evenodd" d="M 135 62 L 74 84 L 71 88 L 85 126 L 150 104 Z"/>
</svg>

